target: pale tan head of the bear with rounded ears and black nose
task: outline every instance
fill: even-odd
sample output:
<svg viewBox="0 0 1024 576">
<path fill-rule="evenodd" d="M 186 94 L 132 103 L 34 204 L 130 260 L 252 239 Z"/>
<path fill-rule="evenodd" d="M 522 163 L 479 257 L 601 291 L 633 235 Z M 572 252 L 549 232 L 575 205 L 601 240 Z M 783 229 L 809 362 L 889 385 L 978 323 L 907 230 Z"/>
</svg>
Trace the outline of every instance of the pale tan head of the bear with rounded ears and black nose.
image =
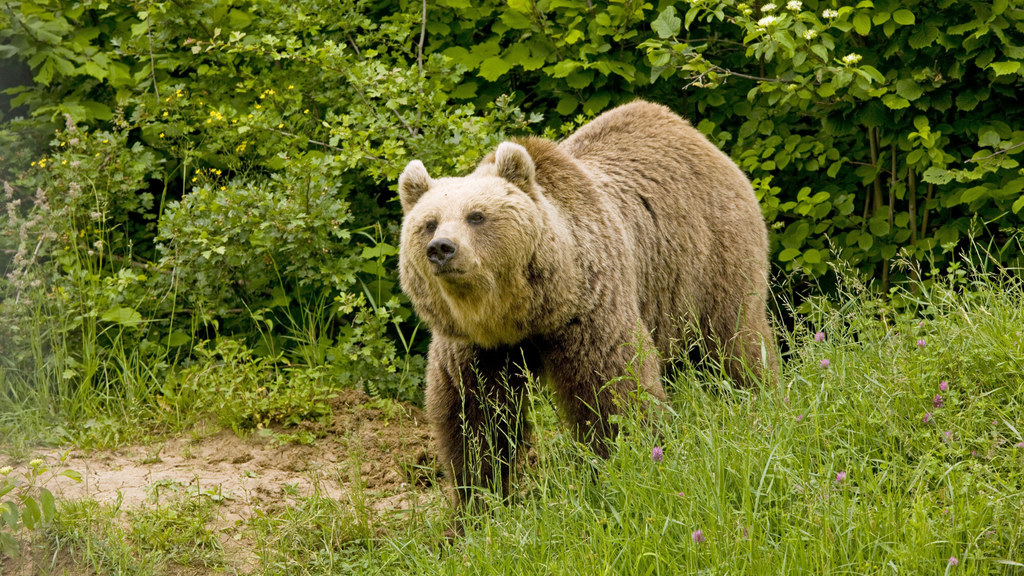
<svg viewBox="0 0 1024 576">
<path fill-rule="evenodd" d="M 401 285 L 431 329 L 487 347 L 528 336 L 547 201 L 526 149 L 504 142 L 465 177 L 433 179 L 414 160 L 398 194 Z"/>
</svg>

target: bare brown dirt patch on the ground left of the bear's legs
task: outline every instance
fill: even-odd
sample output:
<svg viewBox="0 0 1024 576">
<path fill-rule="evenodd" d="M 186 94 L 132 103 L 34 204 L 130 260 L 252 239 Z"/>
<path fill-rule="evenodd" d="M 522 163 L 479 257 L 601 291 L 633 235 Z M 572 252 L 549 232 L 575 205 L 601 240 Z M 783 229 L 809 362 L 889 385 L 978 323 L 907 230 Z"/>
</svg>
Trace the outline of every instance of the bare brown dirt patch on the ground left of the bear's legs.
<svg viewBox="0 0 1024 576">
<path fill-rule="evenodd" d="M 272 513 L 296 497 L 314 493 L 341 502 L 359 495 L 379 512 L 422 506 L 436 497 L 436 491 L 427 489 L 435 475 L 429 430 L 419 409 L 372 402 L 358 390 L 343 390 L 332 401 L 332 409 L 331 421 L 300 426 L 298 431 L 315 438 L 311 445 L 283 440 L 294 437 L 295 428 L 240 438 L 200 425 L 146 445 L 95 452 L 73 449 L 63 464 L 59 460 L 66 450 L 32 457 L 51 468 L 81 474 L 80 483 L 60 476 L 47 482 L 55 496 L 67 500 L 120 501 L 122 509 L 131 510 L 181 494 L 209 496 L 218 502 L 210 528 L 223 535 L 225 556 L 245 572 L 252 568 L 253 554 L 245 549 L 249 543 L 242 528 L 257 510 Z M 0 453 L 0 465 L 4 463 L 9 462 Z M 20 462 L 14 474 L 28 466 Z M 28 553 L 16 564 L 0 560 L 0 572 L 36 574 L 35 554 L 24 551 Z"/>
</svg>

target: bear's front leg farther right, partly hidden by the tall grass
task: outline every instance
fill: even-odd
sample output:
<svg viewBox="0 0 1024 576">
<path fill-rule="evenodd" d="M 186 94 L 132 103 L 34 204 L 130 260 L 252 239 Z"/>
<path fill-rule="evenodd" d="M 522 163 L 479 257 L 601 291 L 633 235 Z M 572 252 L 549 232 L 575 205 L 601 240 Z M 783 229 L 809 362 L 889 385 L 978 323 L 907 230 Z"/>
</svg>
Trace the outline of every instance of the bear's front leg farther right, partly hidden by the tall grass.
<svg viewBox="0 0 1024 576">
<path fill-rule="evenodd" d="M 610 416 L 629 407 L 644 408 L 650 397 L 666 400 L 660 361 L 647 328 L 639 322 L 615 323 L 631 317 L 577 320 L 542 348 L 555 399 L 577 440 L 601 457 L 607 457 L 617 434 Z"/>
</svg>

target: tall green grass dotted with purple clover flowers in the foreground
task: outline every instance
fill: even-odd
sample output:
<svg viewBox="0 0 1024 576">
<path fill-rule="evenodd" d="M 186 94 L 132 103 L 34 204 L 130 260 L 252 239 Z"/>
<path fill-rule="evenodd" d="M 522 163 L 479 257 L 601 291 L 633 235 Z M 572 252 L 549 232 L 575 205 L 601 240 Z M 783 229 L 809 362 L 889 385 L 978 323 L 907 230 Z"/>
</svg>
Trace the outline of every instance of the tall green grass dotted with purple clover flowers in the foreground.
<svg viewBox="0 0 1024 576">
<path fill-rule="evenodd" d="M 777 385 L 735 392 L 682 368 L 665 413 L 624 418 L 607 460 L 535 397 L 518 496 L 484 495 L 488 511 L 452 541 L 436 492 L 408 513 L 365 493 L 261 510 L 242 530 L 252 573 L 1024 574 L 1024 291 L 951 278 L 895 294 L 898 310 L 856 287 L 811 302 Z M 97 521 L 106 507 L 66 503 L 48 545 L 98 573 L 224 570 L 189 509 L 119 528 Z"/>
</svg>

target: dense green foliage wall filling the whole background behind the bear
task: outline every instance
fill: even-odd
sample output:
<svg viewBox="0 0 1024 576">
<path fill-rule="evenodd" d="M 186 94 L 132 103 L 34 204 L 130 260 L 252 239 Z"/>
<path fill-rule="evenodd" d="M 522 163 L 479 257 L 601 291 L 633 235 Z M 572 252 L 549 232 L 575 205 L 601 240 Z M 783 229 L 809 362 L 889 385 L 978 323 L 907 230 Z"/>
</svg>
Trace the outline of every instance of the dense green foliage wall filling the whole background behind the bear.
<svg viewBox="0 0 1024 576">
<path fill-rule="evenodd" d="M 779 292 L 1020 264 L 1009 0 L 14 0 L 0 41 L 0 402 L 251 427 L 339 385 L 416 400 L 401 168 L 635 97 L 751 175 Z"/>
</svg>

